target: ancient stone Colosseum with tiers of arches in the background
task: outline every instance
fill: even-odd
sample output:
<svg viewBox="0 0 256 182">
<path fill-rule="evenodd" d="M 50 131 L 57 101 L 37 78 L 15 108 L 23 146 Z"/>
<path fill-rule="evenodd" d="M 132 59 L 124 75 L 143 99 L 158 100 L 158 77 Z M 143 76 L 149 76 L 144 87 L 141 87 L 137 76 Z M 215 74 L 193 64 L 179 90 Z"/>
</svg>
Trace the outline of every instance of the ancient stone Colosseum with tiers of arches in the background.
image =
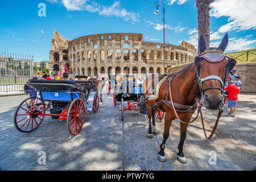
<svg viewBox="0 0 256 182">
<path fill-rule="evenodd" d="M 69 40 L 53 30 L 52 49 L 49 52 L 49 72 L 96 76 L 113 73 L 159 73 L 175 65 L 191 63 L 195 47 L 183 41 L 180 46 L 145 42 L 139 33 L 110 33 L 86 35 Z"/>
</svg>

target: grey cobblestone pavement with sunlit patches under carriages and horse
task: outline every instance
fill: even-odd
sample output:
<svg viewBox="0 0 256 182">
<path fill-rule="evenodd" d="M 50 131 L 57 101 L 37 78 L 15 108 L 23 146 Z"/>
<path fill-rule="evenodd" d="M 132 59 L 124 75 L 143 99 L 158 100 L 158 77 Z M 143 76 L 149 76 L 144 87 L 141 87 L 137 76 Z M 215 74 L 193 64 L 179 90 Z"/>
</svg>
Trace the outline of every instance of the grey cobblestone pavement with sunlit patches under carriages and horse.
<svg viewBox="0 0 256 182">
<path fill-rule="evenodd" d="M 125 111 L 121 122 L 120 105 L 113 106 L 112 95 L 104 94 L 97 113 L 86 115 L 79 135 L 71 137 L 65 122 L 46 117 L 32 133 L 14 128 L 15 107 L 27 96 L 0 98 L 0 169 L 1 170 L 241 170 L 225 154 L 222 135 L 205 140 L 199 121 L 188 127 L 184 154 L 188 162 L 176 159 L 179 123 L 173 122 L 167 140 L 167 162 L 158 160 L 163 122 L 157 120 L 160 133 L 147 138 L 146 115 Z M 206 125 L 208 126 L 208 125 Z M 209 131 L 208 131 L 209 132 Z M 216 147 L 218 146 L 218 147 Z M 39 165 L 39 151 L 46 152 L 46 164 Z M 216 152 L 217 163 L 209 164 Z"/>
</svg>

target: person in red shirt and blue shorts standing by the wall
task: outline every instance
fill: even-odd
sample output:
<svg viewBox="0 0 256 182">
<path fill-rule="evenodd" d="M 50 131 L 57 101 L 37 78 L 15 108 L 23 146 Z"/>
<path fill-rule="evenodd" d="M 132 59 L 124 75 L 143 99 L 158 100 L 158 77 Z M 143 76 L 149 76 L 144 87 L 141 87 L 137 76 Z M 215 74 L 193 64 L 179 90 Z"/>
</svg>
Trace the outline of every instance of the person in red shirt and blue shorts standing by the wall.
<svg viewBox="0 0 256 182">
<path fill-rule="evenodd" d="M 234 81 L 229 81 L 228 85 L 229 86 L 225 88 L 226 92 L 229 93 L 230 113 L 228 117 L 234 117 L 234 111 L 236 110 L 236 104 L 238 99 L 237 94 L 239 93 L 239 89 L 237 88 L 236 85 L 234 85 Z"/>
</svg>

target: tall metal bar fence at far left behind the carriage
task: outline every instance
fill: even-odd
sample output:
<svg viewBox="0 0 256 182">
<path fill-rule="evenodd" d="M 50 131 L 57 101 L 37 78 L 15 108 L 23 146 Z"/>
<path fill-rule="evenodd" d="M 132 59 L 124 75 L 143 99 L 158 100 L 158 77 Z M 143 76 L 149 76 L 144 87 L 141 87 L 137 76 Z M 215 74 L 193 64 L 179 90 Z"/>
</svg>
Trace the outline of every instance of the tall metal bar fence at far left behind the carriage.
<svg viewBox="0 0 256 182">
<path fill-rule="evenodd" d="M 23 91 L 27 80 L 33 76 L 33 59 L 30 55 L 0 55 L 0 92 Z"/>
</svg>

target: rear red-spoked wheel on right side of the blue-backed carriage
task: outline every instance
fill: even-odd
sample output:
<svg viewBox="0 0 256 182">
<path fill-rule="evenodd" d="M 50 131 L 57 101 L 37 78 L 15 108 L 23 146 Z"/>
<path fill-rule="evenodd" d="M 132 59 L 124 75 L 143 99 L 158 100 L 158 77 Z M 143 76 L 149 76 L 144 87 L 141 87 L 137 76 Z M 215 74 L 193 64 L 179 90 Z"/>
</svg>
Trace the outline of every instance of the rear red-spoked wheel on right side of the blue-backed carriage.
<svg viewBox="0 0 256 182">
<path fill-rule="evenodd" d="M 73 100 L 68 109 L 67 115 L 67 125 L 68 130 L 72 135 L 79 134 L 84 124 L 85 118 L 85 107 L 84 102 L 81 98 L 76 98 Z"/>
</svg>

